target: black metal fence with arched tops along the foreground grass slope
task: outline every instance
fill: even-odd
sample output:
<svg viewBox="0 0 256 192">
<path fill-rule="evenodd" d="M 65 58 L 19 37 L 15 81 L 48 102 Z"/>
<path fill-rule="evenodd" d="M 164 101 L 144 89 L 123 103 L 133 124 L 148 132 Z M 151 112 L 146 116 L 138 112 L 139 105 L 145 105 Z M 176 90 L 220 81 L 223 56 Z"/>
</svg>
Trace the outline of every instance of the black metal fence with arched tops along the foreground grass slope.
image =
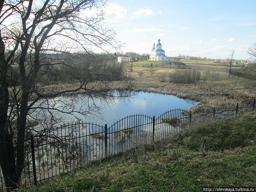
<svg viewBox="0 0 256 192">
<path fill-rule="evenodd" d="M 254 110 L 255 99 L 216 108 L 203 106 L 194 111 L 174 109 L 157 118 L 143 114 L 129 115 L 110 126 L 90 122 L 65 124 L 45 131 L 43 135 L 31 135 L 26 141 L 24 170 L 19 185 L 32 187 L 61 172 L 123 152 L 138 144 L 171 137 L 191 127 Z M 0 189 L 4 191 L 3 169 L 0 169 Z"/>
</svg>

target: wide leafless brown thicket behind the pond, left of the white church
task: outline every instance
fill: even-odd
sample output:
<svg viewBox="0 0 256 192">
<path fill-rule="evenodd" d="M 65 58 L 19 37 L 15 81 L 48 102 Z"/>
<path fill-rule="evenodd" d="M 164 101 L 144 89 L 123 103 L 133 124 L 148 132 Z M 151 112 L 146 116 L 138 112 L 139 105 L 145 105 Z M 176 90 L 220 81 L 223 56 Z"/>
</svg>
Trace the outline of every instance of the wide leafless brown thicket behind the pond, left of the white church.
<svg viewBox="0 0 256 192">
<path fill-rule="evenodd" d="M 114 81 L 124 80 L 127 70 L 123 63 L 109 63 L 104 55 L 89 57 L 86 54 L 50 55 L 56 63 L 46 65 L 38 73 L 42 82 L 51 81 L 72 81 L 72 80 L 102 80 Z M 49 63 L 45 56 L 42 63 Z"/>
</svg>

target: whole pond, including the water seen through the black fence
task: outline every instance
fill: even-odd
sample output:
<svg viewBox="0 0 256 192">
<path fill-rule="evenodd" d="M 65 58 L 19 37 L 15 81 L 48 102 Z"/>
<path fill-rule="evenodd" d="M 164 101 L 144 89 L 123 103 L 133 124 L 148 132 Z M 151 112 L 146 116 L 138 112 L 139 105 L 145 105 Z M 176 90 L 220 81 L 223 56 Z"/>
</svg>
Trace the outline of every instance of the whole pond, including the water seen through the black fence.
<svg viewBox="0 0 256 192">
<path fill-rule="evenodd" d="M 155 121 L 152 121 L 152 117 L 156 116 L 157 118 L 162 113 L 172 109 L 188 110 L 199 103 L 157 93 L 133 92 L 134 96 L 128 98 L 123 97 L 125 92 L 113 91 L 113 93 L 115 98 L 106 101 L 101 97 L 92 100 L 85 94 L 76 94 L 38 102 L 38 106 L 42 110 L 38 108 L 38 112 L 32 112 L 31 117 L 35 118 L 36 114 L 41 115 L 36 119 L 42 119 L 42 123 L 49 121 L 50 125 L 50 113 L 52 117 L 55 117 L 52 118 L 53 123 L 57 120 L 60 125 L 70 123 L 73 120 L 76 122 L 77 118 L 83 122 L 90 121 L 90 123 L 66 124 L 59 126 L 60 129 L 46 132 L 46 137 L 40 137 L 40 135 L 34 137 L 37 150 L 36 166 L 43 166 L 42 175 L 46 172 L 48 175 L 49 172 L 56 175 L 68 170 L 69 165 L 71 168 L 71 164 L 75 167 L 82 163 L 88 163 L 90 160 L 103 158 L 106 154 L 125 151 L 137 144 L 150 143 L 153 140 L 170 137 L 189 127 L 189 117 L 183 118 L 181 111 L 178 111 L 178 116 L 182 118 L 176 121 L 174 119 L 168 120 L 169 117 L 177 115 L 176 113 L 168 113 L 168 115 L 155 119 Z M 100 108 L 91 106 L 92 103 Z M 56 110 L 55 112 L 47 111 L 45 110 L 47 107 L 67 113 L 60 113 Z M 85 116 L 80 113 L 71 115 L 69 114 L 70 111 L 82 111 L 88 114 Z M 92 113 L 94 115 L 91 115 Z M 145 115 L 122 119 L 133 114 Z M 119 119 L 122 120 L 118 121 Z M 107 129 L 101 126 L 105 124 L 108 126 Z M 46 128 L 48 129 L 48 126 Z M 53 165 L 52 162 L 55 164 Z M 44 165 L 47 166 L 44 167 Z M 49 167 L 51 171 L 46 171 L 45 168 L 48 169 Z"/>
</svg>

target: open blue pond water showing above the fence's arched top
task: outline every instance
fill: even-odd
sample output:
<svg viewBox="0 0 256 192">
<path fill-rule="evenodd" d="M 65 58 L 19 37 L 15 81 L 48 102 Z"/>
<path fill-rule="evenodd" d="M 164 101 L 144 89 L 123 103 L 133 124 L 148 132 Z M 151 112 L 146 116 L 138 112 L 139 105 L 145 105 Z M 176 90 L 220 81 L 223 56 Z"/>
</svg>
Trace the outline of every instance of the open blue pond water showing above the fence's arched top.
<svg viewBox="0 0 256 192">
<path fill-rule="evenodd" d="M 91 113 L 94 113 L 95 115 L 88 114 L 86 117 L 84 117 L 81 114 L 75 114 L 75 117 L 84 122 L 90 121 L 100 125 L 107 124 L 109 126 L 127 115 L 146 114 L 150 115 L 151 117 L 154 115 L 158 117 L 168 110 L 178 108 L 188 110 L 199 103 L 197 101 L 181 99 L 173 95 L 158 93 L 134 92 L 135 96 L 132 96 L 131 98 L 119 97 L 123 95 L 123 92 L 119 92 L 117 90 L 115 90 L 114 93 L 116 98 L 112 100 L 112 102 L 108 101 L 110 102 L 108 104 L 104 100 L 94 98 L 94 103 L 96 106 L 100 107 L 100 113 L 97 113 L 97 110 L 94 107 L 90 108 L 90 110 Z M 87 110 L 88 104 L 92 103 L 92 99 L 83 94 L 77 94 L 74 96 L 60 96 L 55 98 L 55 101 L 56 100 L 65 100 L 63 103 L 69 103 L 69 100 L 72 100 L 72 103 L 75 104 L 75 108 L 77 110 Z M 63 122 L 68 123 L 72 119 L 74 119 L 74 116 L 66 114 L 63 118 Z"/>
</svg>

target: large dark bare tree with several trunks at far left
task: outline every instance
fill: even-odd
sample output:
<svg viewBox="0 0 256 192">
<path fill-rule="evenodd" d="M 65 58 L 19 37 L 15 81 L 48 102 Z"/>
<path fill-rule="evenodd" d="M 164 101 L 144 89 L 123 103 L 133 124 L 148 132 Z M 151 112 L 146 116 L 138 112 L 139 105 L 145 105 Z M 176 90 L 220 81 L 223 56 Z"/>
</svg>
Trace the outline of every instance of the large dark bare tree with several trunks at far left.
<svg viewBox="0 0 256 192">
<path fill-rule="evenodd" d="M 0 2 L 0 165 L 7 190 L 19 186 L 28 117 L 36 109 L 63 112 L 50 99 L 78 90 L 91 97 L 113 96 L 106 81 L 117 75 L 84 56 L 92 55 L 88 46 L 120 48 L 113 30 L 102 25 L 98 8 L 104 5 L 104 0 Z M 92 9 L 93 15 L 88 13 Z M 44 88 L 46 79 L 65 81 L 66 76 L 76 83 Z"/>
</svg>

